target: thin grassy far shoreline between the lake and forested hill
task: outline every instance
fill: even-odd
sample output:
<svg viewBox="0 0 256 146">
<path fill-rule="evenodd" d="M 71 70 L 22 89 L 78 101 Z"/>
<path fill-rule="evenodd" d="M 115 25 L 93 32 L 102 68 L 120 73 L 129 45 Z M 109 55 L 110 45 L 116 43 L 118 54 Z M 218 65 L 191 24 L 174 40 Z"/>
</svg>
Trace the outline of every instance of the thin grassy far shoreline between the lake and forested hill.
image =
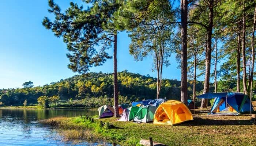
<svg viewBox="0 0 256 146">
<path fill-rule="evenodd" d="M 44 108 L 41 106 L 2 106 L 0 109 L 45 109 L 45 110 L 62 110 L 62 109 L 78 109 L 78 110 L 97 110 L 98 108 L 84 108 L 84 107 L 58 107 L 58 108 Z"/>
</svg>

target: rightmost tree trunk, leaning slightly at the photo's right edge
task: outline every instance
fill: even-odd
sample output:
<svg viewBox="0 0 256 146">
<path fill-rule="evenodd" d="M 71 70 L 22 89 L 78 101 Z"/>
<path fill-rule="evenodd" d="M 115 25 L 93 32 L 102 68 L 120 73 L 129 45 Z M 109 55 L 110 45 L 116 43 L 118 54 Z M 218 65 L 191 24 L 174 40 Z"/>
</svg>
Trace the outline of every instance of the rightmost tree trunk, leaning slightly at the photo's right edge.
<svg viewBox="0 0 256 146">
<path fill-rule="evenodd" d="M 253 17 L 253 27 L 252 27 L 252 41 L 251 41 L 251 47 L 252 47 L 252 68 L 249 78 L 249 86 L 250 87 L 250 96 L 252 96 L 252 83 L 253 83 L 253 72 L 254 72 L 254 61 L 255 61 L 255 48 L 254 48 L 254 33 L 255 33 L 255 26 L 256 26 L 256 7 L 254 10 L 254 17 Z"/>
</svg>

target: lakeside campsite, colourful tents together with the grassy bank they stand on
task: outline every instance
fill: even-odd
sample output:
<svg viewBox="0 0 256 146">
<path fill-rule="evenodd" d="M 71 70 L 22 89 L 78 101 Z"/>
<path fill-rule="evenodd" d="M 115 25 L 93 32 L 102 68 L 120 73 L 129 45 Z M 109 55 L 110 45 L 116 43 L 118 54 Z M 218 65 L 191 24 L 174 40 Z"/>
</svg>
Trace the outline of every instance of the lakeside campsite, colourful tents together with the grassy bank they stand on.
<svg viewBox="0 0 256 146">
<path fill-rule="evenodd" d="M 168 146 L 256 145 L 255 117 L 253 120 L 250 114 L 256 113 L 253 109 L 256 103 L 251 104 L 249 97 L 242 93 L 207 93 L 198 96 L 213 97 L 214 105 L 203 109 L 189 110 L 185 104 L 177 100 L 144 100 L 127 106 L 120 118 L 113 118 L 113 113 L 105 114 L 103 117 L 104 113 L 114 112 L 113 107 L 104 105 L 98 108 L 99 115 L 92 117 L 93 122 L 91 118 L 81 116 L 47 119 L 42 123 L 58 123 L 60 134 L 67 139 L 103 139 L 120 145 L 138 145 L 142 139 L 149 137 L 154 142 Z M 226 97 L 228 99 L 223 100 Z M 70 132 L 70 126 L 74 130 L 82 131 L 70 137 L 65 134 L 67 131 Z M 87 136 L 83 135 L 85 131 Z M 89 135 L 91 136 L 88 137 Z"/>
</svg>

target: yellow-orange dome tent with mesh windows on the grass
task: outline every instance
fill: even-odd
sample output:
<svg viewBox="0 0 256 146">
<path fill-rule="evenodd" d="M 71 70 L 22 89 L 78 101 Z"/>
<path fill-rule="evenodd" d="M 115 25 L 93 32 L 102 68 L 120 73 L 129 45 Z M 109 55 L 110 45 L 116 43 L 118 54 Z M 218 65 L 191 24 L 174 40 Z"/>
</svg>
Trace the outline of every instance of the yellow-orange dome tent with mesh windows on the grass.
<svg viewBox="0 0 256 146">
<path fill-rule="evenodd" d="M 154 124 L 175 125 L 193 120 L 188 107 L 180 101 L 168 100 L 159 105 L 154 115 Z"/>
</svg>

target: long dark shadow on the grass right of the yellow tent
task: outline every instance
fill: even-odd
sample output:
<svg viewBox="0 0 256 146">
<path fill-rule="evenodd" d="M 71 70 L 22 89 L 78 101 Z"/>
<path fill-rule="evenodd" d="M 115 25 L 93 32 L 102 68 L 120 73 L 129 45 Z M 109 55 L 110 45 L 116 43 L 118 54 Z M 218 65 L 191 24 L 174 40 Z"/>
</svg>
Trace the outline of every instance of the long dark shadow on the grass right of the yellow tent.
<svg viewBox="0 0 256 146">
<path fill-rule="evenodd" d="M 194 120 L 179 124 L 177 126 L 231 126 L 231 125 L 252 125 L 250 120 L 215 120 L 194 117 Z"/>
</svg>

